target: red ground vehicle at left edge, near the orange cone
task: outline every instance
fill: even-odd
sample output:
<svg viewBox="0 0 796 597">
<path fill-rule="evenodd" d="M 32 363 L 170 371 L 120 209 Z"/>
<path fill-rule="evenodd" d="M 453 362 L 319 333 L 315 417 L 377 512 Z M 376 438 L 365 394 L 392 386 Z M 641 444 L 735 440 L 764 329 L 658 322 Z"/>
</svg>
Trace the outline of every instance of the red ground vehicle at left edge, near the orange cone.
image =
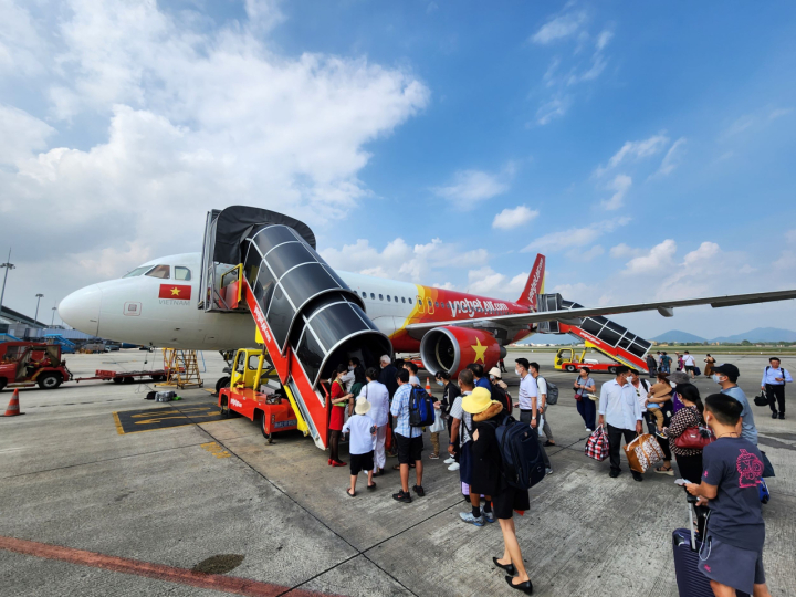
<svg viewBox="0 0 796 597">
<path fill-rule="evenodd" d="M 61 346 L 34 342 L 0 344 L 0 390 L 4 387 L 55 389 L 72 379 L 66 362 L 61 360 Z"/>
</svg>

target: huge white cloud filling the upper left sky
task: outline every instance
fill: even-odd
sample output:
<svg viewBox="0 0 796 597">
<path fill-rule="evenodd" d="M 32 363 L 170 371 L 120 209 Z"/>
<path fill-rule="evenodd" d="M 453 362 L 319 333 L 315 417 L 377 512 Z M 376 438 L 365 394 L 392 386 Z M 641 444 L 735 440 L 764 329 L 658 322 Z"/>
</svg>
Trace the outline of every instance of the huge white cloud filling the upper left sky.
<svg viewBox="0 0 796 597">
<path fill-rule="evenodd" d="M 56 40 L 35 75 L 50 124 L 0 107 L 0 219 L 28 271 L 43 260 L 49 284 L 74 287 L 124 273 L 143 247 L 199 250 L 210 208 L 248 203 L 318 224 L 371 195 L 358 177 L 365 145 L 423 109 L 429 90 L 364 57 L 280 55 L 268 36 L 283 19 L 277 4 L 248 0 L 245 10 L 242 22 L 198 27 L 155 2 L 73 0 L 62 20 L 31 20 Z M 22 60 L 8 39 L 0 24 L 7 85 L 3 65 Z M 48 145 L 55 128 L 70 139 L 76 118 L 106 126 L 106 137 Z M 31 205 L 46 247 L 24 232 Z M 94 271 L 67 265 L 81 261 Z"/>
</svg>

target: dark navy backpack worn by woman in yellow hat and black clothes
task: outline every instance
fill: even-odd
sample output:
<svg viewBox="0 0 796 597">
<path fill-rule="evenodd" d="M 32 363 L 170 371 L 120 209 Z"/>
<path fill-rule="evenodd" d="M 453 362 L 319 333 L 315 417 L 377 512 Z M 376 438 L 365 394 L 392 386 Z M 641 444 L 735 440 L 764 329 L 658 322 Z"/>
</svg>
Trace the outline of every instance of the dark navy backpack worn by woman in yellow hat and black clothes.
<svg viewBox="0 0 796 597">
<path fill-rule="evenodd" d="M 545 465 L 536 434 L 530 425 L 506 415 L 495 428 L 503 460 L 503 478 L 511 486 L 527 490 L 545 478 Z"/>
</svg>

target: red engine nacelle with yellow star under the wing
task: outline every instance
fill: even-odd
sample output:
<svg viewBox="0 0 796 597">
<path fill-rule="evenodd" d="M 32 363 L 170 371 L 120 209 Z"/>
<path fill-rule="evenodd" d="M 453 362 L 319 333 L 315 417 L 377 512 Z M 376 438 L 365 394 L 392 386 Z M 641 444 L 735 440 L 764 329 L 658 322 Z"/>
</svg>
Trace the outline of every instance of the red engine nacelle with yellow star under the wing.
<svg viewBox="0 0 796 597">
<path fill-rule="evenodd" d="M 420 342 L 420 358 L 431 375 L 444 370 L 455 377 L 470 363 L 481 363 L 489 371 L 505 355 L 492 334 L 469 327 L 436 327 Z"/>
</svg>

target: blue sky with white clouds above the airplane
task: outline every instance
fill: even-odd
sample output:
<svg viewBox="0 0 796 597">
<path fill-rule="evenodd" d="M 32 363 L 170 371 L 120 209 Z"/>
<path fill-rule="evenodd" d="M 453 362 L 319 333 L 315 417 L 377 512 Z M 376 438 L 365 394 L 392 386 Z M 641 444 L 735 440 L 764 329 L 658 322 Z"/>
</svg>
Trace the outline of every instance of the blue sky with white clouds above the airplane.
<svg viewBox="0 0 796 597">
<path fill-rule="evenodd" d="M 0 0 L 4 304 L 307 222 L 335 268 L 584 305 L 796 287 L 796 4 Z M 40 316 L 40 318 L 45 318 Z M 796 303 L 617 316 L 796 329 Z M 46 321 L 46 320 L 45 320 Z"/>
</svg>

